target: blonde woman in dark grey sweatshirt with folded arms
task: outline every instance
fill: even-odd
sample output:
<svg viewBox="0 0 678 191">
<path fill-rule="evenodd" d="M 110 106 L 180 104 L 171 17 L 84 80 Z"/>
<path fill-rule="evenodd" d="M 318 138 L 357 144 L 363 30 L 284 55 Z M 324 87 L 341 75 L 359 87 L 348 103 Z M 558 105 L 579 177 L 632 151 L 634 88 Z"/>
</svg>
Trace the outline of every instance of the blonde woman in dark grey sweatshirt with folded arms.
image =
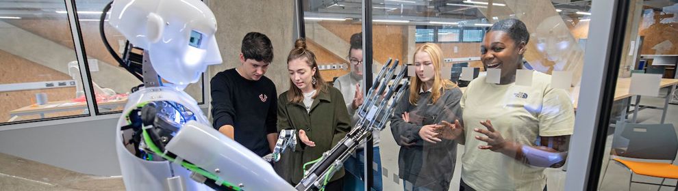
<svg viewBox="0 0 678 191">
<path fill-rule="evenodd" d="M 414 67 L 410 92 L 401 98 L 390 124 L 401 146 L 399 175 L 405 190 L 448 190 L 457 153 L 455 138 L 462 133 L 458 121 L 462 91 L 442 78 L 438 45 L 419 46 Z"/>
</svg>

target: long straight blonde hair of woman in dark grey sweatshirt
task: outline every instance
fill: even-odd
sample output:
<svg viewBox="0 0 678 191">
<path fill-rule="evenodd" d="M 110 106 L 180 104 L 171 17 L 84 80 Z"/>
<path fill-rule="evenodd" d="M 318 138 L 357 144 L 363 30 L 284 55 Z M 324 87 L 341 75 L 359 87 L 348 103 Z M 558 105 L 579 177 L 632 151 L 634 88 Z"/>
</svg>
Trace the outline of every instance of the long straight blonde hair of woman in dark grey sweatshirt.
<svg viewBox="0 0 678 191">
<path fill-rule="evenodd" d="M 431 62 L 434 65 L 434 83 L 433 87 L 429 87 L 431 88 L 430 104 L 434 104 L 438 101 L 440 95 L 444 93 L 445 89 L 452 89 L 457 87 L 457 85 L 452 83 L 449 79 L 443 79 L 442 74 L 440 74 L 440 68 L 442 68 L 442 50 L 440 50 L 440 46 L 433 43 L 425 43 L 416 48 L 413 57 L 416 57 L 416 54 L 420 52 L 428 53 L 429 57 L 431 57 Z M 412 60 L 412 63 L 414 63 L 414 59 Z M 418 76 L 410 77 L 410 82 L 410 104 L 416 105 L 416 102 L 419 100 L 419 90 L 421 89 L 423 82 Z"/>
</svg>

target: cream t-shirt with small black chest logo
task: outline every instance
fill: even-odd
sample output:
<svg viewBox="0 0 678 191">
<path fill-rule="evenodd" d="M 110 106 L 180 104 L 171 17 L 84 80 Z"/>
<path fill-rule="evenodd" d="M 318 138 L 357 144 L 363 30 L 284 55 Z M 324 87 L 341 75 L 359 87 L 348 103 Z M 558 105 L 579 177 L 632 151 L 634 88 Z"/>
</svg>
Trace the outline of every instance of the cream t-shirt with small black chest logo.
<svg viewBox="0 0 678 191">
<path fill-rule="evenodd" d="M 546 185 L 544 168 L 479 149 L 487 143 L 475 136 L 485 135 L 473 129 L 487 129 L 479 121 L 489 119 L 503 138 L 534 146 L 538 136 L 573 133 L 572 100 L 564 89 L 551 87 L 551 76 L 541 72 L 533 73 L 530 87 L 485 80 L 486 76 L 481 76 L 471 81 L 460 101 L 466 136 L 462 179 L 476 190 L 542 190 Z"/>
</svg>

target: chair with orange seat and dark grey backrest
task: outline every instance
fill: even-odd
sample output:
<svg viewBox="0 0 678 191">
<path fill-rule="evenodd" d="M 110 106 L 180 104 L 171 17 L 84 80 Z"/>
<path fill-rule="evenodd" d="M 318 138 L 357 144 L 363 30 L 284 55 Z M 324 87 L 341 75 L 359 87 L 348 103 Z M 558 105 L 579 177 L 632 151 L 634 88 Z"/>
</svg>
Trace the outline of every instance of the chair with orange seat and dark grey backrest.
<svg viewBox="0 0 678 191">
<path fill-rule="evenodd" d="M 678 138 L 672 124 L 637 124 L 618 121 L 614 130 L 611 152 L 612 155 L 618 156 L 612 160 L 631 171 L 629 190 L 631 190 L 631 183 L 652 184 L 661 189 L 662 186 L 667 186 L 664 185 L 666 179 L 678 179 L 678 166 L 672 164 L 678 152 Z M 640 162 L 637 159 L 670 162 Z M 609 162 L 607 166 L 610 166 Z M 662 183 L 633 181 L 633 174 L 660 177 Z M 603 173 L 604 179 L 605 173 Z"/>
</svg>

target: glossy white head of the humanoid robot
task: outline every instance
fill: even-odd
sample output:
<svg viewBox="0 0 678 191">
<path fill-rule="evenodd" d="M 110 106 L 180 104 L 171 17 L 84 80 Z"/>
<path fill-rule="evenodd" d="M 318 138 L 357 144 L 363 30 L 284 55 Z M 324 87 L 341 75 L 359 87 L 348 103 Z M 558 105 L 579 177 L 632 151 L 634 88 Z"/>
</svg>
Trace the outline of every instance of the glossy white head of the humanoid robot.
<svg viewBox="0 0 678 191">
<path fill-rule="evenodd" d="M 116 0 L 109 23 L 148 50 L 155 71 L 181 89 L 221 63 L 216 18 L 199 0 Z"/>
</svg>

